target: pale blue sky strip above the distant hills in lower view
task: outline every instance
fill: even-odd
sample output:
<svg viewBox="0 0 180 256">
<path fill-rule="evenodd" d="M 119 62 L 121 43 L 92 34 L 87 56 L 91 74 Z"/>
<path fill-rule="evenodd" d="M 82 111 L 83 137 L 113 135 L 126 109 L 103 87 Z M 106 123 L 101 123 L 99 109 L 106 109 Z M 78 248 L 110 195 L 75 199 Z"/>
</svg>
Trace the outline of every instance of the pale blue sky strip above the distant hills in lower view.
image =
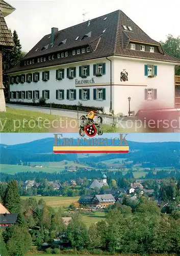
<svg viewBox="0 0 180 256">
<path fill-rule="evenodd" d="M 104 138 L 117 138 L 118 133 L 103 134 Z M 39 140 L 44 138 L 54 137 L 53 133 L 2 133 L 0 134 L 0 144 L 20 144 L 25 142 L 30 142 L 33 140 Z M 79 137 L 78 133 L 64 133 L 63 137 Z M 179 133 L 130 133 L 126 136 L 127 140 L 137 141 L 137 142 L 164 142 L 164 141 L 177 141 L 180 142 Z"/>
</svg>

